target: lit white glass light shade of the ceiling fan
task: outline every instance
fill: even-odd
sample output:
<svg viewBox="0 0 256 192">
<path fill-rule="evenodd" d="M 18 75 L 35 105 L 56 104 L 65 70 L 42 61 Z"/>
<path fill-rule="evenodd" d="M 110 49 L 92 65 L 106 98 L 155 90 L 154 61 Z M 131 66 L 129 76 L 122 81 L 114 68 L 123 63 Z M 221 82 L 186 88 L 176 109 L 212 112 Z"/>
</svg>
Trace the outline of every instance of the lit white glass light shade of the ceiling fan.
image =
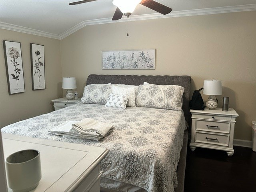
<svg viewBox="0 0 256 192">
<path fill-rule="evenodd" d="M 122 13 L 132 13 L 141 0 L 113 0 Z"/>
</svg>

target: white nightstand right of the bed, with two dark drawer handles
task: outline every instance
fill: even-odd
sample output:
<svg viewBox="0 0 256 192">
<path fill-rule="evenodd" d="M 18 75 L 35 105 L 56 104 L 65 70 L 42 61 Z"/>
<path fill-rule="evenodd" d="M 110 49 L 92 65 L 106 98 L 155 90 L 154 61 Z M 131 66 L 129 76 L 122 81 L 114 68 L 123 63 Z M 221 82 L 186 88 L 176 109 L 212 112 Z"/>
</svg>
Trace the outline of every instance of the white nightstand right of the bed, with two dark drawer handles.
<svg viewBox="0 0 256 192">
<path fill-rule="evenodd" d="M 234 109 L 190 110 L 192 114 L 192 130 L 190 149 L 196 147 L 224 150 L 228 156 L 234 154 L 233 138 L 236 117 Z"/>
</svg>

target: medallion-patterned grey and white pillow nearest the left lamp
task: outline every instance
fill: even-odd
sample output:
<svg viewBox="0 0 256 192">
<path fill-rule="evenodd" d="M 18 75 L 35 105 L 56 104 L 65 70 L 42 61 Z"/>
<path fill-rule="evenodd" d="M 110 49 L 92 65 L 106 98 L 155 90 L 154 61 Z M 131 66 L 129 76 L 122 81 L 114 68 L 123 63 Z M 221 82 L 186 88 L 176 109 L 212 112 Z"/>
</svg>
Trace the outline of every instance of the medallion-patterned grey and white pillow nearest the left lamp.
<svg viewBox="0 0 256 192">
<path fill-rule="evenodd" d="M 111 84 L 91 84 L 84 87 L 81 103 L 106 104 L 112 93 Z"/>
</svg>

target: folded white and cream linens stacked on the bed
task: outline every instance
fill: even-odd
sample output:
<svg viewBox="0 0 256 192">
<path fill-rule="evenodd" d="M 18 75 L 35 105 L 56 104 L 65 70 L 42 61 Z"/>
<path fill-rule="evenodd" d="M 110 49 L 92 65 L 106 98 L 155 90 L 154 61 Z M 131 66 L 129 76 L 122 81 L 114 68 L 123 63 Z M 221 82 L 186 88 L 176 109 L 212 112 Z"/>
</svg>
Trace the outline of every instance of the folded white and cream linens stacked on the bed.
<svg viewBox="0 0 256 192">
<path fill-rule="evenodd" d="M 50 133 L 63 138 L 86 138 L 100 140 L 114 130 L 114 126 L 85 118 L 81 121 L 66 121 L 49 130 Z"/>
</svg>

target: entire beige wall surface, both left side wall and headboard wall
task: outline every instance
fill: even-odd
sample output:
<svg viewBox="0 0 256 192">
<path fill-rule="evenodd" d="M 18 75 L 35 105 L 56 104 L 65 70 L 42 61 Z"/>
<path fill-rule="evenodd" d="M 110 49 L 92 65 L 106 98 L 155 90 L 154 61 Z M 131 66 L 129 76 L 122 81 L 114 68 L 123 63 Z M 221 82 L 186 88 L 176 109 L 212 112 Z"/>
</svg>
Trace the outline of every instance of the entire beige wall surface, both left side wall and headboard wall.
<svg viewBox="0 0 256 192">
<path fill-rule="evenodd" d="M 0 29 L 0 40 L 21 42 L 25 89 L 8 95 L 0 46 L 0 127 L 52 110 L 63 96 L 62 76 L 75 76 L 82 96 L 89 74 L 190 75 L 191 95 L 204 79 L 222 80 L 223 95 L 237 118 L 236 139 L 251 140 L 256 120 L 256 12 L 236 12 L 86 26 L 63 40 Z M 45 48 L 46 89 L 32 91 L 30 43 Z M 102 70 L 102 50 L 156 49 L 155 70 Z M 204 100 L 207 96 L 202 95 Z"/>
</svg>

